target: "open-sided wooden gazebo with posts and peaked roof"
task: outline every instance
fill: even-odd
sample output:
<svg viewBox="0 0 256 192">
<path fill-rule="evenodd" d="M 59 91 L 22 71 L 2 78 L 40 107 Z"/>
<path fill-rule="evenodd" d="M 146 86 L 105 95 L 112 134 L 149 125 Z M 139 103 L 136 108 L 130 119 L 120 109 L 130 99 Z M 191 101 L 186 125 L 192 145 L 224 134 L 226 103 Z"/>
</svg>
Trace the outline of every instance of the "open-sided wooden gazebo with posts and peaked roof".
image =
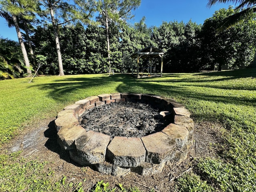
<svg viewBox="0 0 256 192">
<path fill-rule="evenodd" d="M 139 59 L 140 58 L 149 58 L 150 60 L 150 75 L 152 73 L 152 58 L 159 56 L 161 58 L 161 77 L 163 73 L 163 58 L 164 58 L 164 52 L 156 47 L 153 47 L 152 45 L 139 50 L 138 52 L 135 52 L 130 57 L 132 59 L 137 58 L 137 78 L 139 78 Z M 132 75 L 133 75 L 133 64 L 132 64 Z"/>
</svg>

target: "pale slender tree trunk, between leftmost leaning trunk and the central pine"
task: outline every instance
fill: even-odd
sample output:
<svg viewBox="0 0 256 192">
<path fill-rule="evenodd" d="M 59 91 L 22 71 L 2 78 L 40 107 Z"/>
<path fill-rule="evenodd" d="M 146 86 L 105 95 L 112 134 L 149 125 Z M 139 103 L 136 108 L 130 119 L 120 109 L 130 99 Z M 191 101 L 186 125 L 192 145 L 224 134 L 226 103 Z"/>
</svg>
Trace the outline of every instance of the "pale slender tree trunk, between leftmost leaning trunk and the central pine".
<svg viewBox="0 0 256 192">
<path fill-rule="evenodd" d="M 54 37 L 55 37 L 55 42 L 56 42 L 56 50 L 57 50 L 58 63 L 59 63 L 59 71 L 60 71 L 59 76 L 64 76 L 63 64 L 62 64 L 62 58 L 61 58 L 61 52 L 60 52 L 60 41 L 59 41 L 59 37 L 58 37 L 56 20 L 54 18 L 53 7 L 52 7 L 52 5 L 50 3 L 49 3 L 49 9 L 50 9 L 50 14 L 51 14 L 51 18 L 52 18 L 52 26 L 53 26 Z"/>
</svg>

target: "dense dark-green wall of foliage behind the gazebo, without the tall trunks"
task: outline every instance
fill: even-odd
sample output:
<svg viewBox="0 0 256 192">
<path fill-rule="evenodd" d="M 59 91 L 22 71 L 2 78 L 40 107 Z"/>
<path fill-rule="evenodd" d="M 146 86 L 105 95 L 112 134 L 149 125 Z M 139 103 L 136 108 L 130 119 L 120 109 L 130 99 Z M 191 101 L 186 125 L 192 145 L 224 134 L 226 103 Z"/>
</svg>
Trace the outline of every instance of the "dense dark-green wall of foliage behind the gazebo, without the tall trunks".
<svg viewBox="0 0 256 192">
<path fill-rule="evenodd" d="M 236 12 L 232 7 L 220 9 L 211 18 L 206 19 L 203 25 L 190 20 L 187 23 L 162 22 L 159 27 L 148 27 L 145 17 L 134 25 L 124 21 L 110 22 L 109 51 L 106 28 L 102 25 L 91 23 L 85 27 L 82 22 L 76 22 L 68 26 L 58 26 L 64 73 L 105 73 L 109 70 L 109 61 L 115 72 L 131 72 L 132 60 L 129 56 L 149 45 L 165 52 L 164 72 L 196 72 L 215 70 L 217 67 L 221 70 L 224 66 L 248 67 L 252 64 L 256 51 L 255 14 L 250 14 L 250 17 L 240 21 L 238 25 L 216 34 L 219 25 Z M 31 36 L 34 54 L 46 56 L 46 62 L 40 68 L 41 74 L 59 74 L 53 31 L 52 24 L 46 23 L 37 26 Z M 10 46 L 10 42 L 6 40 L 0 43 L 2 47 Z M 25 43 L 27 44 L 27 41 Z M 0 58 L 6 58 L 6 54 L 0 50 Z M 0 71 L 4 74 L 2 77 L 0 74 L 0 78 L 22 76 L 25 70 L 23 62 L 6 59 L 4 61 L 8 62 L 8 66 L 0 66 Z M 140 62 L 143 68 L 147 68 L 147 59 Z M 20 70 L 17 70 L 17 64 Z M 159 72 L 160 58 L 154 59 L 153 64 L 156 66 L 156 72 Z M 8 70 L 10 75 L 6 75 L 4 72 L 10 66 L 14 70 Z"/>
</svg>

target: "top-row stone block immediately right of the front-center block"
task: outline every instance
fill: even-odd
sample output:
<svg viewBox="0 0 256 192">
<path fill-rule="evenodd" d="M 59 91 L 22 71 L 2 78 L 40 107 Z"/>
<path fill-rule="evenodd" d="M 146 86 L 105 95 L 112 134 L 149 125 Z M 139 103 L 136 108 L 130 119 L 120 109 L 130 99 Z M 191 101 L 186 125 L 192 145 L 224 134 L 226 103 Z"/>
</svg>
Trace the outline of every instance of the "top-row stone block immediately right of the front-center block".
<svg viewBox="0 0 256 192">
<path fill-rule="evenodd" d="M 141 138 L 146 148 L 146 162 L 161 164 L 172 157 L 176 151 L 176 142 L 163 132 L 144 136 Z"/>
</svg>

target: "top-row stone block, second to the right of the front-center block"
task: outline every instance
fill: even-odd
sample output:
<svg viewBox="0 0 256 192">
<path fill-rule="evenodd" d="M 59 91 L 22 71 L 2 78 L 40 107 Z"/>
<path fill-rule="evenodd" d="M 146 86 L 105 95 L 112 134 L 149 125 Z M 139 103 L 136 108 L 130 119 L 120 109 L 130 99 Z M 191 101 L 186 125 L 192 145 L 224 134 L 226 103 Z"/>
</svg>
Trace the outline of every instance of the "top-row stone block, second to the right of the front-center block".
<svg viewBox="0 0 256 192">
<path fill-rule="evenodd" d="M 186 127 L 176 124 L 169 124 L 162 132 L 176 141 L 177 147 L 181 148 L 188 141 L 188 130 Z"/>
</svg>

